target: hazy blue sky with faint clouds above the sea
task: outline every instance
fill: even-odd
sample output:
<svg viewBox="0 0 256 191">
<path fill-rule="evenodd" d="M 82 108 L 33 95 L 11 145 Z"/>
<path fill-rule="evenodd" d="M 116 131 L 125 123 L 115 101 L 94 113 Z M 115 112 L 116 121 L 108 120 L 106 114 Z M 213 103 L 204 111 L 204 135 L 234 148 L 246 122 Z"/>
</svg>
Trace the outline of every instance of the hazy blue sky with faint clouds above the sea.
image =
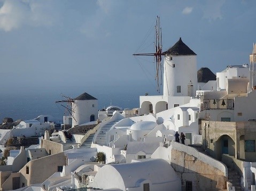
<svg viewBox="0 0 256 191">
<path fill-rule="evenodd" d="M 249 63 L 255 8 L 255 0 L 0 1 L 1 91 L 156 89 L 153 57 L 132 54 L 153 51 L 157 15 L 163 50 L 181 37 L 198 69 Z"/>
</svg>

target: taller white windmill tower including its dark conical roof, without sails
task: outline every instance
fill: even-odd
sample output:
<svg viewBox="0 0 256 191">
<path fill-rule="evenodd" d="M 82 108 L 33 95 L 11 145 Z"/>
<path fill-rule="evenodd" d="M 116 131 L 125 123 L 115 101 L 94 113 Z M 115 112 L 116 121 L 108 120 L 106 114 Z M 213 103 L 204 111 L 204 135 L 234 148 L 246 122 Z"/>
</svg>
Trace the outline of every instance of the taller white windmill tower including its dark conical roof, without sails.
<svg viewBox="0 0 256 191">
<path fill-rule="evenodd" d="M 164 96 L 196 95 L 197 58 L 181 38 L 164 52 Z"/>
</svg>

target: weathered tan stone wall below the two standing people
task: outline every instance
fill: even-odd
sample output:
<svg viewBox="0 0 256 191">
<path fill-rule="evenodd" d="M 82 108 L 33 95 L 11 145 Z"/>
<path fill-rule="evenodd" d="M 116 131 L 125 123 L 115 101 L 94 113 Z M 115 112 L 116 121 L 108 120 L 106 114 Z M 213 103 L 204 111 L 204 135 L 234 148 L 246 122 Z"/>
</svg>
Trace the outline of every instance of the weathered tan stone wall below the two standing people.
<svg viewBox="0 0 256 191">
<path fill-rule="evenodd" d="M 172 149 L 170 163 L 181 178 L 182 190 L 187 190 L 188 184 L 192 190 L 226 189 L 224 173 L 193 155 Z"/>
</svg>

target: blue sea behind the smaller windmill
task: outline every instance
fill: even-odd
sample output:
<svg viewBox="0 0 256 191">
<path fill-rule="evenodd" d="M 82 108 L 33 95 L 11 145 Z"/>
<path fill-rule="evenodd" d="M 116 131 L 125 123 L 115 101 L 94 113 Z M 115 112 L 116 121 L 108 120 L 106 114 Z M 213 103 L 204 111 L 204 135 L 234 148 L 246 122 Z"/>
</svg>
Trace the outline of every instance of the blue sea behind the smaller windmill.
<svg viewBox="0 0 256 191">
<path fill-rule="evenodd" d="M 14 121 L 34 119 L 38 115 L 49 114 L 63 122 L 63 116 L 68 115 L 64 106 L 66 103 L 55 103 L 65 100 L 64 96 L 75 98 L 84 92 L 98 99 L 98 110 L 109 105 L 117 105 L 122 109 L 139 107 L 139 96 L 145 95 L 143 88 L 133 90 L 120 90 L 115 87 L 86 89 L 54 89 L 54 90 L 29 90 L 17 92 L 3 92 L 0 95 L 0 124 L 6 117 Z M 150 94 L 152 95 L 152 94 Z M 62 106 L 62 105 L 64 106 Z"/>
</svg>

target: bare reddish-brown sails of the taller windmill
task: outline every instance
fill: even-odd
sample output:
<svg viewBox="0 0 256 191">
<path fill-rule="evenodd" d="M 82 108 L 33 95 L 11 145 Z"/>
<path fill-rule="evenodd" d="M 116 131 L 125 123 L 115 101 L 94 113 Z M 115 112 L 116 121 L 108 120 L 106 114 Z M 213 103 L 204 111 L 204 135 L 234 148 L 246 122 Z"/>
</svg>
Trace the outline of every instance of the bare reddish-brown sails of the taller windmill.
<svg viewBox="0 0 256 191">
<path fill-rule="evenodd" d="M 157 16 L 156 26 L 154 27 L 156 31 L 156 41 L 154 42 L 154 53 L 140 53 L 140 54 L 133 54 L 134 56 L 154 56 L 154 61 L 156 61 L 156 77 L 155 80 L 157 81 L 157 92 L 160 93 L 159 86 L 161 85 L 162 81 L 162 28 L 160 27 L 160 18 Z"/>
</svg>

